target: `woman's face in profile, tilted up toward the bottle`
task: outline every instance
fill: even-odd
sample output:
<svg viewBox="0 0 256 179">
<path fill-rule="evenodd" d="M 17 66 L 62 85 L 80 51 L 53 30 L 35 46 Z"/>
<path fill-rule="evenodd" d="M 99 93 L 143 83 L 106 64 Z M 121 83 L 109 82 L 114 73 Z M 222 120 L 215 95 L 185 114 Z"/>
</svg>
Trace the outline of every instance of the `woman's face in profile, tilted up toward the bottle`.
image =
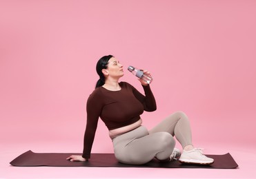
<svg viewBox="0 0 256 179">
<path fill-rule="evenodd" d="M 123 65 L 115 59 L 115 57 L 112 57 L 108 61 L 108 67 L 104 74 L 107 74 L 108 76 L 111 76 L 112 78 L 121 77 L 124 76 L 124 70 Z"/>
</svg>

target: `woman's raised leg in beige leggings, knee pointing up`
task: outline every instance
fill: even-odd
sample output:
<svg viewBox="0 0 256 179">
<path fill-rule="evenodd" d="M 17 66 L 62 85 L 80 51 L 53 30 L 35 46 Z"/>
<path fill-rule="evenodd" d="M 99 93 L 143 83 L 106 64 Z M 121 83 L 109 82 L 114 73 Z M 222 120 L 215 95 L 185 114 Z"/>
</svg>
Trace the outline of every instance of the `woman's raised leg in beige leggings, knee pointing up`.
<svg viewBox="0 0 256 179">
<path fill-rule="evenodd" d="M 149 133 L 153 134 L 159 131 L 166 131 L 175 136 L 183 148 L 193 146 L 190 123 L 188 116 L 184 112 L 171 114 L 156 127 L 152 128 Z"/>
</svg>

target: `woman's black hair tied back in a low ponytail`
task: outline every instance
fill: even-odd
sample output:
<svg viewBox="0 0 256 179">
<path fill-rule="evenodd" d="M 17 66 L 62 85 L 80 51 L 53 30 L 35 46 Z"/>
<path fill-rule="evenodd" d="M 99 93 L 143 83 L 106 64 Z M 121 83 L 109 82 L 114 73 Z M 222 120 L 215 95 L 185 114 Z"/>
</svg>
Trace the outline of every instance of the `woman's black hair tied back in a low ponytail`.
<svg viewBox="0 0 256 179">
<path fill-rule="evenodd" d="M 99 59 L 99 61 L 97 62 L 97 65 L 96 65 L 96 71 L 97 71 L 97 74 L 99 74 L 99 80 L 97 81 L 96 83 L 96 87 L 101 87 L 102 85 L 105 84 L 105 76 L 104 74 L 102 73 L 102 69 L 107 69 L 108 67 L 108 61 L 114 56 L 112 56 L 111 54 L 108 55 L 108 56 L 102 56 L 101 59 Z"/>
</svg>

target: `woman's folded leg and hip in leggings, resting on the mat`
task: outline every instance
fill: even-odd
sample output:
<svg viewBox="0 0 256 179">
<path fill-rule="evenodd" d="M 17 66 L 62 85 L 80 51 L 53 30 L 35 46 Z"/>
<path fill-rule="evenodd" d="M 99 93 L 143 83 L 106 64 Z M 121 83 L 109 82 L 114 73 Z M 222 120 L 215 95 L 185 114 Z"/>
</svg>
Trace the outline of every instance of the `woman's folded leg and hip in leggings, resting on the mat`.
<svg viewBox="0 0 256 179">
<path fill-rule="evenodd" d="M 141 165 L 155 157 L 159 160 L 170 158 L 175 140 L 167 132 L 148 135 L 146 127 L 139 127 L 114 138 L 113 145 L 119 162 Z"/>
</svg>

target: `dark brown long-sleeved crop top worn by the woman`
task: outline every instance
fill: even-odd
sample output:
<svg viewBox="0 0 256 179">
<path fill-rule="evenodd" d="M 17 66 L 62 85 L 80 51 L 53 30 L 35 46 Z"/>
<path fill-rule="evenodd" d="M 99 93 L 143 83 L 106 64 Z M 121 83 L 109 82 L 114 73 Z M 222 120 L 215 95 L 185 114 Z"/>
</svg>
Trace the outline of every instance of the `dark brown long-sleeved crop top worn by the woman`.
<svg viewBox="0 0 256 179">
<path fill-rule="evenodd" d="M 119 83 L 121 90 L 110 91 L 104 87 L 97 87 L 90 94 L 87 105 L 87 123 L 83 138 L 83 158 L 90 158 L 92 143 L 99 117 L 109 130 L 124 127 L 137 122 L 144 110 L 152 112 L 157 109 L 155 97 L 150 86 L 143 86 L 141 94 L 135 87 L 126 82 Z"/>
</svg>

